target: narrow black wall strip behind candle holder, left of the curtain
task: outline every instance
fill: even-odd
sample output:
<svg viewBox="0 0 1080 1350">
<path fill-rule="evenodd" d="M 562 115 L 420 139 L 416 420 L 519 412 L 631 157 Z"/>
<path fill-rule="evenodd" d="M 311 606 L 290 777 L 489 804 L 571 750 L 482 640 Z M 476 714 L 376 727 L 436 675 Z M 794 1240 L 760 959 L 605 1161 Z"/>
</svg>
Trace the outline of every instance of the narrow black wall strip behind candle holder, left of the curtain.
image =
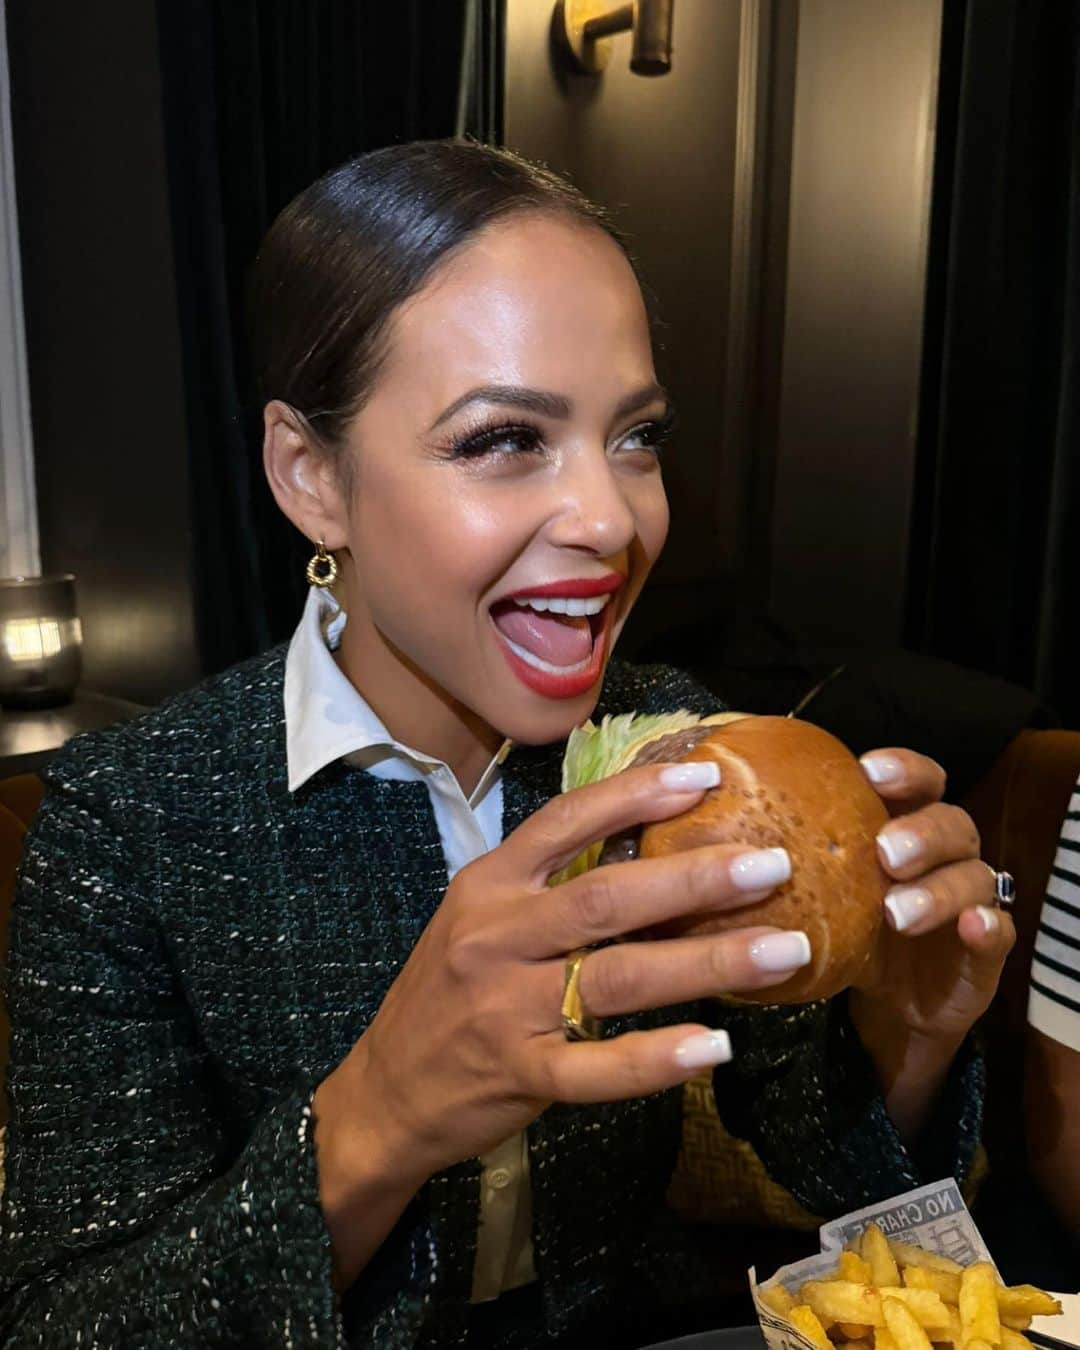
<svg viewBox="0 0 1080 1350">
<path fill-rule="evenodd" d="M 86 687 L 151 703 L 200 674 L 155 8 L 7 16 L 42 566 Z"/>
</svg>

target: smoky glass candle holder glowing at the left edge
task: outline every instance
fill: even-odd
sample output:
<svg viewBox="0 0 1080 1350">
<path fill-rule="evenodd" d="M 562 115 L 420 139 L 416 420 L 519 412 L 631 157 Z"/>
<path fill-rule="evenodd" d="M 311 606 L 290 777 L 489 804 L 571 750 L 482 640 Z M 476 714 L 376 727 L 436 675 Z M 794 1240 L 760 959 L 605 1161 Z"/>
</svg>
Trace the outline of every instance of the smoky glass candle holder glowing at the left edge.
<svg viewBox="0 0 1080 1350">
<path fill-rule="evenodd" d="M 0 706 L 69 703 L 81 674 L 74 576 L 0 578 Z"/>
</svg>

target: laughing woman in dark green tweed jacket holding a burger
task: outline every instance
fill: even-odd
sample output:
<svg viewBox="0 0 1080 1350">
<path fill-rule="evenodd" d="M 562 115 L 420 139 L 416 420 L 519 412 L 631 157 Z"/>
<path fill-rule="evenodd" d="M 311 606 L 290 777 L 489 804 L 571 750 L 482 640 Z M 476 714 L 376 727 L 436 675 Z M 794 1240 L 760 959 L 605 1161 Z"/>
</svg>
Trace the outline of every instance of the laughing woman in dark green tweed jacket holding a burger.
<svg viewBox="0 0 1080 1350">
<path fill-rule="evenodd" d="M 707 1066 L 814 1211 L 963 1176 L 1011 926 L 918 755 L 867 760 L 902 817 L 895 932 L 850 1000 L 707 1002 L 783 980 L 801 933 L 613 944 L 579 971 L 608 1037 L 564 1034 L 570 953 L 790 865 L 714 848 L 545 886 L 714 784 L 556 796 L 594 711 L 716 706 L 608 666 L 664 541 L 671 414 L 602 215 L 501 151 L 382 150 L 282 213 L 254 296 L 313 587 L 288 652 L 49 772 L 12 936 L 5 1343 L 636 1343 L 686 1293 L 660 1216 Z"/>
</svg>

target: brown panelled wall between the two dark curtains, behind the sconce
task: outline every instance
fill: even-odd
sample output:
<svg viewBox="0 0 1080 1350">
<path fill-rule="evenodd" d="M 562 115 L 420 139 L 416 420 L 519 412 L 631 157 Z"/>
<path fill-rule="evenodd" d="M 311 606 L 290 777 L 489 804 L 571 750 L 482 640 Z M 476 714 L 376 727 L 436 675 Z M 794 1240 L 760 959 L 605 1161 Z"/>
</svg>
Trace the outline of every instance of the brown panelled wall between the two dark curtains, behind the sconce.
<svg viewBox="0 0 1080 1350">
<path fill-rule="evenodd" d="M 756 606 L 899 644 L 941 0 L 678 0 L 670 74 L 564 74 L 508 0 L 506 143 L 616 208 L 666 320 L 672 532 L 624 639 Z"/>
</svg>

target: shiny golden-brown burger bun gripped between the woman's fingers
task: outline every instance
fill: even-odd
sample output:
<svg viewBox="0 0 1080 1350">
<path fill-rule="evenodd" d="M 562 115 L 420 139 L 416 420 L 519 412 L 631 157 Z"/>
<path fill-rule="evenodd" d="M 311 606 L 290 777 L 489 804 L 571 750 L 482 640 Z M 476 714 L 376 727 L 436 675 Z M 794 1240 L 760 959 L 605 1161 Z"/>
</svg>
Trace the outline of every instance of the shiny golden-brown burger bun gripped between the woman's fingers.
<svg viewBox="0 0 1080 1350">
<path fill-rule="evenodd" d="M 878 941 L 890 886 L 875 844 L 888 813 L 859 761 L 834 736 L 788 717 L 729 721 L 680 759 L 716 760 L 721 784 L 683 815 L 647 826 L 640 856 L 662 857 L 703 844 L 779 846 L 791 855 L 791 880 L 756 905 L 687 915 L 649 936 L 756 925 L 803 929 L 810 964 L 783 984 L 740 998 L 806 1003 L 850 986 Z"/>
</svg>

